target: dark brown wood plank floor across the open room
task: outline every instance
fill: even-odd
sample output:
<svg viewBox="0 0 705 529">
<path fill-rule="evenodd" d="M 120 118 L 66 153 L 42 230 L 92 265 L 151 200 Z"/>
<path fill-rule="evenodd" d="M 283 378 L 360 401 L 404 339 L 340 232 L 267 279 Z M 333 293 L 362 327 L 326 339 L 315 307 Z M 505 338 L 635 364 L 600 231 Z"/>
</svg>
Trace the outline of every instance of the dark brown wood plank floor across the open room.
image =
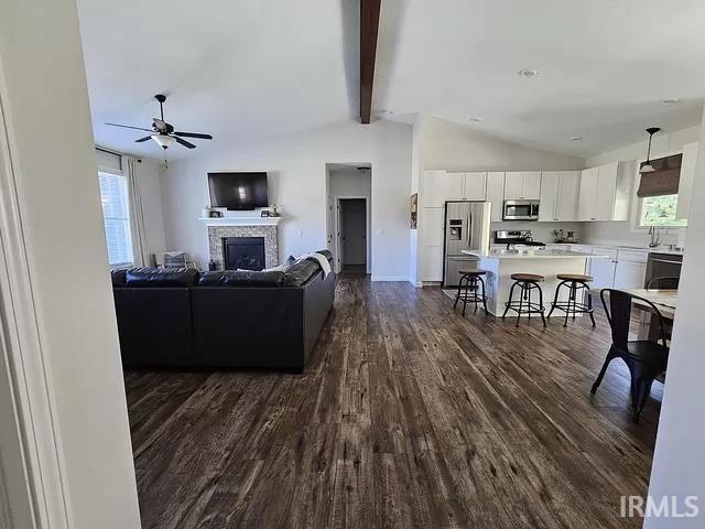
<svg viewBox="0 0 705 529">
<path fill-rule="evenodd" d="M 520 328 L 438 289 L 343 277 L 303 375 L 129 373 L 144 528 L 622 528 L 640 424 L 598 315 Z"/>
</svg>

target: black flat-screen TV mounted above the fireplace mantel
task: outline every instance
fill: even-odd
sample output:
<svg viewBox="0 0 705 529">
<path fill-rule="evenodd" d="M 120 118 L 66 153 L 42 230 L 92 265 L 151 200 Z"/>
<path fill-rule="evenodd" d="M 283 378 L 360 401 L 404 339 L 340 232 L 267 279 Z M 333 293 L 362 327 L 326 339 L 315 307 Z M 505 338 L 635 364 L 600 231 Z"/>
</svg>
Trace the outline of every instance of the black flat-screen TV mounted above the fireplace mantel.
<svg viewBox="0 0 705 529">
<path fill-rule="evenodd" d="M 267 173 L 208 173 L 210 206 L 234 210 L 268 207 Z"/>
</svg>

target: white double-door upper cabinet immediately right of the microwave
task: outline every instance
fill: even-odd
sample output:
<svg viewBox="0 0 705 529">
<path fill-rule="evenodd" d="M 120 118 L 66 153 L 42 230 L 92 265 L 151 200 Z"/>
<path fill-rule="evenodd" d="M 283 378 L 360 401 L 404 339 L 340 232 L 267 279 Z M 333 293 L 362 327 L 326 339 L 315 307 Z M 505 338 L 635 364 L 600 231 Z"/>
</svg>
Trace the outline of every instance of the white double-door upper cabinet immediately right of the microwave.
<svg viewBox="0 0 705 529">
<path fill-rule="evenodd" d="M 546 223 L 575 220 L 579 180 L 579 171 L 541 173 L 539 220 Z"/>
</svg>

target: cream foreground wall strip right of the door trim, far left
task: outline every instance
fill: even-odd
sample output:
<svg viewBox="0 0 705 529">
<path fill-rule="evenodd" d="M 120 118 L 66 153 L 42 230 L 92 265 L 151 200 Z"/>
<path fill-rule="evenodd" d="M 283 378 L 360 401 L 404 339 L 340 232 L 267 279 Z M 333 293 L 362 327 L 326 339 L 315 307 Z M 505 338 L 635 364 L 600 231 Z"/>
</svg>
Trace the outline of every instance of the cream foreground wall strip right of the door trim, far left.
<svg viewBox="0 0 705 529">
<path fill-rule="evenodd" d="M 70 527 L 137 529 L 137 487 L 75 2 L 3 1 L 0 61 Z M 40 131 L 56 133 L 40 138 Z"/>
</svg>

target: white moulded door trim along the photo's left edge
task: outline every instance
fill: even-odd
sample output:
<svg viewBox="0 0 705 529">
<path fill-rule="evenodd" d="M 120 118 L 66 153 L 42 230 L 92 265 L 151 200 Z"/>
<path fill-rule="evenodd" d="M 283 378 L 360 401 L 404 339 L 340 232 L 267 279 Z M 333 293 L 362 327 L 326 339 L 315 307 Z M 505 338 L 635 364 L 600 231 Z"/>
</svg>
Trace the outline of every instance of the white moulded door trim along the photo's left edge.
<svg viewBox="0 0 705 529">
<path fill-rule="evenodd" d="M 2 389 L 12 396 L 12 402 L 3 403 L 3 411 L 15 418 L 13 423 L 3 424 L 10 434 L 0 436 L 4 454 L 0 479 L 6 482 L 4 490 L 0 490 L 0 515 L 12 519 L 15 512 L 30 512 L 31 519 L 23 518 L 21 527 L 68 529 L 73 526 L 68 487 L 25 248 L 18 196 L 22 170 L 17 163 L 3 74 L 0 57 L 0 369 L 7 377 L 0 377 L 0 384 L 4 382 Z M 18 463 L 14 468 L 12 462 Z M 20 472 L 23 482 L 19 481 Z"/>
</svg>

